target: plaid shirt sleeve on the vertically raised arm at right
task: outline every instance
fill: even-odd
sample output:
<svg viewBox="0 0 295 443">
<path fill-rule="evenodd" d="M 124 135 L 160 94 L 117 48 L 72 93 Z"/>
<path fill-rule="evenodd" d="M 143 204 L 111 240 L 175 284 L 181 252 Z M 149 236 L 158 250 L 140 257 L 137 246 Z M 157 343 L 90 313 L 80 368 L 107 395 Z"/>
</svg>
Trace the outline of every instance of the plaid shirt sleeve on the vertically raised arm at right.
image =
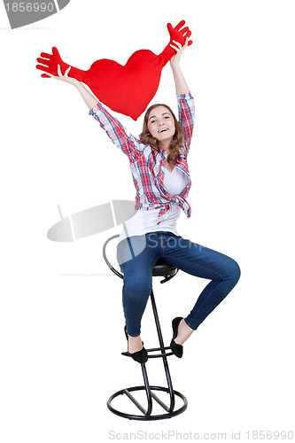
<svg viewBox="0 0 295 443">
<path fill-rule="evenodd" d="M 177 94 L 179 122 L 185 134 L 186 154 L 190 151 L 190 141 L 195 121 L 195 102 L 191 93 Z"/>
</svg>

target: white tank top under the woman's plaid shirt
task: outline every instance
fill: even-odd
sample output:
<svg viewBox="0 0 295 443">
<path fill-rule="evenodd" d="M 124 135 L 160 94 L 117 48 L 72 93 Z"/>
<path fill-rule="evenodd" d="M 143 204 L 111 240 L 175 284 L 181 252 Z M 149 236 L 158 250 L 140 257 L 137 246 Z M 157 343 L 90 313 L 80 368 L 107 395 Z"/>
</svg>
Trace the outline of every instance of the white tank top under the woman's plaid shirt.
<svg viewBox="0 0 295 443">
<path fill-rule="evenodd" d="M 174 167 L 172 172 L 169 172 L 164 167 L 164 187 L 170 197 L 179 195 L 185 186 L 188 184 L 188 177 L 181 169 Z M 158 223 L 159 209 L 138 209 L 128 221 L 125 221 L 124 228 L 120 233 L 119 243 L 126 237 L 143 236 L 148 232 L 155 232 L 158 230 L 166 230 L 173 232 L 178 236 L 176 229 L 176 221 L 180 217 L 181 207 L 173 202 L 171 209 L 167 211 L 167 218 Z"/>
</svg>

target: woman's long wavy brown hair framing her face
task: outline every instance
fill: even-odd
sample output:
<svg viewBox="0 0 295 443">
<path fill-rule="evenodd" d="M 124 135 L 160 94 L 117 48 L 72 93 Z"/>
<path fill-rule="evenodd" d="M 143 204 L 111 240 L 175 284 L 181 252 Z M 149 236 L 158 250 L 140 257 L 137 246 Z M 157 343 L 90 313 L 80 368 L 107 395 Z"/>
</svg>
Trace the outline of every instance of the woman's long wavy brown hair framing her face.
<svg viewBox="0 0 295 443">
<path fill-rule="evenodd" d="M 184 142 L 184 131 L 179 123 L 179 121 L 175 117 L 175 113 L 172 111 L 172 109 L 164 104 L 156 104 L 151 105 L 145 115 L 144 115 L 144 124 L 143 124 L 143 132 L 139 135 L 139 139 L 144 142 L 145 144 L 150 144 L 152 149 L 155 149 L 157 152 L 159 152 L 159 140 L 157 138 L 154 138 L 151 136 L 151 133 L 148 128 L 148 121 L 150 117 L 151 111 L 157 107 L 157 106 L 165 106 L 169 113 L 173 116 L 175 120 L 175 134 L 173 136 L 173 140 L 169 146 L 169 152 L 167 155 L 167 162 L 168 163 L 176 163 L 177 158 L 181 155 L 182 145 Z"/>
</svg>

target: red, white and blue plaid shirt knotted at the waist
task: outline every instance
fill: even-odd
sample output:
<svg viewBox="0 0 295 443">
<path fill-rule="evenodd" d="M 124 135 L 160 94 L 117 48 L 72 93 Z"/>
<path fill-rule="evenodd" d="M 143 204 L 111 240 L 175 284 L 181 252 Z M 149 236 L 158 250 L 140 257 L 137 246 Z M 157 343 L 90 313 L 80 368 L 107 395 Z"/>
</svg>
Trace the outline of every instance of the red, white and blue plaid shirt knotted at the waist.
<svg viewBox="0 0 295 443">
<path fill-rule="evenodd" d="M 187 175 L 188 183 L 179 195 L 170 197 L 164 187 L 163 167 L 167 164 L 167 152 L 152 149 L 134 136 L 127 134 L 126 129 L 116 120 L 100 102 L 90 110 L 89 114 L 99 122 L 111 138 L 113 144 L 120 148 L 129 159 L 133 182 L 136 187 L 136 209 L 159 209 L 159 221 L 163 221 L 173 202 L 181 206 L 187 217 L 190 217 L 190 205 L 186 201 L 191 181 L 187 163 L 190 140 L 194 124 L 195 106 L 191 94 L 177 95 L 179 122 L 185 133 L 185 140 L 180 149 L 181 155 L 176 161 L 178 167 Z"/>
</svg>

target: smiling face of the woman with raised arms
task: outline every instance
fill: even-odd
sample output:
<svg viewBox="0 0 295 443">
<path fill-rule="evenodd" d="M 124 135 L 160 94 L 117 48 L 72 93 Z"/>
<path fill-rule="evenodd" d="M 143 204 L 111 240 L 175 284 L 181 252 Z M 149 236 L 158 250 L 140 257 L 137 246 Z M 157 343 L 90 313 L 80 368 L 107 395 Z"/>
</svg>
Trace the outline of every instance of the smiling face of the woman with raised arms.
<svg viewBox="0 0 295 443">
<path fill-rule="evenodd" d="M 166 106 L 159 105 L 151 110 L 148 119 L 151 136 L 161 141 L 172 141 L 175 135 L 175 119 Z"/>
</svg>

